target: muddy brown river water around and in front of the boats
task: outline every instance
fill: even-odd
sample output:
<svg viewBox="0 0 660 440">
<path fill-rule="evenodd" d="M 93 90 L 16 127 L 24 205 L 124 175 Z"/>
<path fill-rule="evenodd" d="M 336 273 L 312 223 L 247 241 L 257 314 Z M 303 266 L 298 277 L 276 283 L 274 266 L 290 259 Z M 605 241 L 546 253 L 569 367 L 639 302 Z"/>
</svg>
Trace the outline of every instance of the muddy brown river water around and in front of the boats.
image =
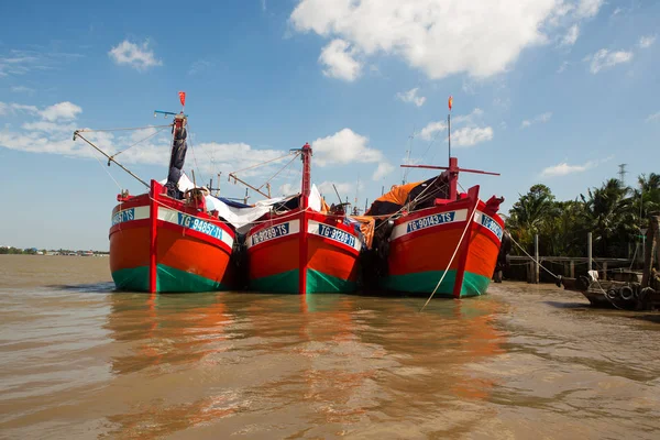
<svg viewBox="0 0 660 440">
<path fill-rule="evenodd" d="M 660 315 L 424 301 L 116 293 L 105 257 L 0 255 L 0 438 L 660 438 Z"/>
</svg>

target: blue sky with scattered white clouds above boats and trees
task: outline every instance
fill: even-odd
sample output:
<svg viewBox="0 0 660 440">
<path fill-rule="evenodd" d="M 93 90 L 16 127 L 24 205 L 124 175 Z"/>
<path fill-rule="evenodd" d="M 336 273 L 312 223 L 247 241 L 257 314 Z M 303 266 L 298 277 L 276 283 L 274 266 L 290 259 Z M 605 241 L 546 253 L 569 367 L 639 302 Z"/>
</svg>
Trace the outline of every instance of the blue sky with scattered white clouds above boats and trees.
<svg viewBox="0 0 660 440">
<path fill-rule="evenodd" d="M 312 143 L 312 179 L 360 207 L 414 163 L 452 153 L 506 212 L 531 185 L 570 199 L 615 176 L 660 172 L 660 2 L 602 0 L 242 0 L 13 2 L 0 30 L 0 245 L 108 249 L 118 184 L 75 129 L 167 123 L 187 92 L 197 178 Z M 153 134 L 88 133 L 117 152 Z M 162 132 L 119 156 L 167 176 Z M 240 173 L 261 185 L 283 166 Z M 109 172 L 112 177 L 108 175 Z M 408 182 L 429 177 L 411 170 Z M 113 180 L 116 179 L 118 184 Z M 217 179 L 216 179 L 217 180 Z M 299 188 L 299 163 L 272 180 Z M 251 200 L 258 197 L 253 195 Z"/>
</svg>

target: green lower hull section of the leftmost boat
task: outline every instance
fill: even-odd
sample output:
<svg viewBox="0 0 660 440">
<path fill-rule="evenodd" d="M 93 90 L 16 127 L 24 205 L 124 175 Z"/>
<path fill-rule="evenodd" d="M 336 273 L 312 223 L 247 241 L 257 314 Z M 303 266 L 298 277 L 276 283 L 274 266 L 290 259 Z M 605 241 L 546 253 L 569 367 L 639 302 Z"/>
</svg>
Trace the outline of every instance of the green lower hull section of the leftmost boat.
<svg viewBox="0 0 660 440">
<path fill-rule="evenodd" d="M 112 273 L 112 279 L 118 289 L 133 292 L 148 292 L 148 267 L 122 268 Z M 157 265 L 156 292 L 200 293 L 223 290 L 222 284 L 204 276 L 169 267 Z"/>
</svg>

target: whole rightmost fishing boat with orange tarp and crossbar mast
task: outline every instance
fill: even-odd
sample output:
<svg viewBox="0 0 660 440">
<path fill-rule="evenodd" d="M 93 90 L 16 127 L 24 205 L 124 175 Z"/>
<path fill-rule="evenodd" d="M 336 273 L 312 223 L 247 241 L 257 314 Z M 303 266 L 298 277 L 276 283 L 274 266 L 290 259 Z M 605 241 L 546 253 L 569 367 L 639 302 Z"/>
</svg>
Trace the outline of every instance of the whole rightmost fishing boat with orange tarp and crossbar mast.
<svg viewBox="0 0 660 440">
<path fill-rule="evenodd" d="M 458 177 L 460 172 L 498 174 L 459 168 L 451 153 L 448 167 L 403 166 L 444 172 L 395 186 L 372 204 L 365 216 L 374 217 L 376 227 L 365 279 L 372 288 L 411 294 L 485 294 L 507 239 L 497 215 L 504 198 L 482 201 L 479 185 L 459 194 Z"/>
</svg>

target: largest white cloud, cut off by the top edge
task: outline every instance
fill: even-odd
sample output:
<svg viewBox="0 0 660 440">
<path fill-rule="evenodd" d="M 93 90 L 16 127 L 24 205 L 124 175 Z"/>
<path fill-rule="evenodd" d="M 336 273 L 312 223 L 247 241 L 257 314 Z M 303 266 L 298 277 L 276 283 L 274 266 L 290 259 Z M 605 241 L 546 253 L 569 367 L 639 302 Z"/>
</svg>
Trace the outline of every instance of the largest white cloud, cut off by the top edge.
<svg viewBox="0 0 660 440">
<path fill-rule="evenodd" d="M 403 58 L 432 79 L 458 73 L 490 77 L 520 53 L 546 44 L 602 0 L 299 0 L 290 15 L 298 32 L 352 44 L 364 57 Z M 352 59 L 352 56 L 349 57 Z"/>
</svg>

